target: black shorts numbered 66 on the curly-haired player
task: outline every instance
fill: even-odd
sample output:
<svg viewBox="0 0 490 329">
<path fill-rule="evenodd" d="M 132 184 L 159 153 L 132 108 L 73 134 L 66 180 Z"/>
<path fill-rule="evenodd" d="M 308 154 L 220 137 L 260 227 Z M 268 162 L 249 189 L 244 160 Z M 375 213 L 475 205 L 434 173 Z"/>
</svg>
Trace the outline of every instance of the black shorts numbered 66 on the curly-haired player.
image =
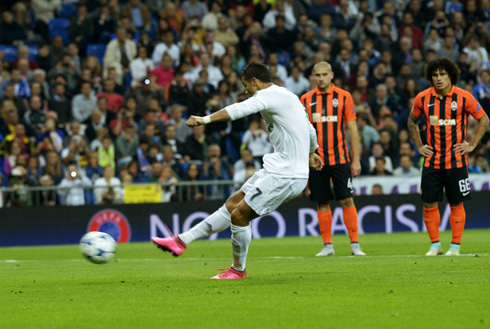
<svg viewBox="0 0 490 329">
<path fill-rule="evenodd" d="M 443 188 L 450 204 L 471 199 L 470 179 L 466 167 L 454 169 L 424 167 L 421 188 L 424 203 L 442 201 Z"/>
</svg>

